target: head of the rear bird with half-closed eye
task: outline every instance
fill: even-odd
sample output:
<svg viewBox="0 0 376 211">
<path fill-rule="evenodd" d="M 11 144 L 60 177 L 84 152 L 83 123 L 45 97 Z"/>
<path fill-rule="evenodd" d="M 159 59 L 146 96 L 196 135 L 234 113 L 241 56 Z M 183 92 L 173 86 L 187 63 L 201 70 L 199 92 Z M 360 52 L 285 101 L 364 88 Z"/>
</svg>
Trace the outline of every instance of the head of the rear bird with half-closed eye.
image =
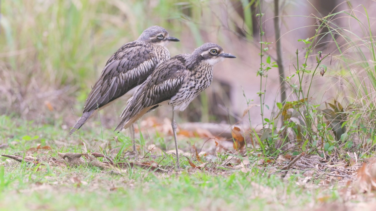
<svg viewBox="0 0 376 211">
<path fill-rule="evenodd" d="M 177 38 L 170 37 L 167 30 L 160 26 L 150 26 L 139 36 L 138 40 L 151 42 L 157 45 L 167 45 L 168 42 L 178 42 Z"/>
</svg>

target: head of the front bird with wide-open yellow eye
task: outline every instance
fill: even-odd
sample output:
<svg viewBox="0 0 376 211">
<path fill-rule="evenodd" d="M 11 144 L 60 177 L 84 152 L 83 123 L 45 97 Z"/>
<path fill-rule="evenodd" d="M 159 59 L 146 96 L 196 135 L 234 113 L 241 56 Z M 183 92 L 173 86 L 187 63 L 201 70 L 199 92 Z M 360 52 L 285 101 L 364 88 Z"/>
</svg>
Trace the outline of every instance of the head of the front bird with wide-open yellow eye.
<svg viewBox="0 0 376 211">
<path fill-rule="evenodd" d="M 199 57 L 203 62 L 209 63 L 209 65 L 215 65 L 223 61 L 224 58 L 236 58 L 234 55 L 224 53 L 222 47 L 211 42 L 196 48 L 192 55 Z"/>
</svg>

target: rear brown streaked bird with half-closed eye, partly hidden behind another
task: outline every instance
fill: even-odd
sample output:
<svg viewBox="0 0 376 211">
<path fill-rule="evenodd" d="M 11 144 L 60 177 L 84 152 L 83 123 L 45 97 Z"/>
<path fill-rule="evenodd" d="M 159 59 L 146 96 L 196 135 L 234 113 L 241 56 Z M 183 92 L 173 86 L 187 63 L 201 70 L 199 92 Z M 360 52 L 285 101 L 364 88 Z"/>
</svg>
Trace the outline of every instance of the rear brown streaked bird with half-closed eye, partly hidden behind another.
<svg viewBox="0 0 376 211">
<path fill-rule="evenodd" d="M 160 26 L 151 26 L 137 40 L 116 51 L 92 87 L 82 116 L 69 134 L 78 130 L 96 111 L 143 83 L 160 63 L 170 59 L 170 52 L 165 47 L 170 41 L 179 39 L 170 37 Z"/>
</svg>

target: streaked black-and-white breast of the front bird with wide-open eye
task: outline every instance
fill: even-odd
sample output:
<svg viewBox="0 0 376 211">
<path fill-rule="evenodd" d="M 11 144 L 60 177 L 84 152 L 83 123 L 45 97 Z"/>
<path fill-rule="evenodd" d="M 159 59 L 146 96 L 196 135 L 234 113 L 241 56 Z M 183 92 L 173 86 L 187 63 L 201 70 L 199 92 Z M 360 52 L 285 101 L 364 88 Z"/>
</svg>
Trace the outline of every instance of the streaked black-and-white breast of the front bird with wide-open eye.
<svg viewBox="0 0 376 211">
<path fill-rule="evenodd" d="M 211 65 L 203 65 L 199 70 L 190 72 L 179 92 L 170 99 L 168 104 L 172 105 L 174 110 L 183 111 L 200 92 L 210 86 L 212 80 L 213 67 Z"/>
</svg>

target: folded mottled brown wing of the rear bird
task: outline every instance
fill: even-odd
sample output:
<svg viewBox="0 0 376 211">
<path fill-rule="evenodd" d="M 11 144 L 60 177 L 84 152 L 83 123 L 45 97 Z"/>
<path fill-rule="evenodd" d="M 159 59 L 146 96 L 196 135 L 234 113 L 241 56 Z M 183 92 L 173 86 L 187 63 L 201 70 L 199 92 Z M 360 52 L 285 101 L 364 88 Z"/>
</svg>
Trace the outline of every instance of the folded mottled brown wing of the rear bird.
<svg viewBox="0 0 376 211">
<path fill-rule="evenodd" d="M 86 99 L 83 113 L 100 108 L 141 84 L 157 65 L 156 55 L 144 45 L 123 45 L 108 60 Z"/>
</svg>

